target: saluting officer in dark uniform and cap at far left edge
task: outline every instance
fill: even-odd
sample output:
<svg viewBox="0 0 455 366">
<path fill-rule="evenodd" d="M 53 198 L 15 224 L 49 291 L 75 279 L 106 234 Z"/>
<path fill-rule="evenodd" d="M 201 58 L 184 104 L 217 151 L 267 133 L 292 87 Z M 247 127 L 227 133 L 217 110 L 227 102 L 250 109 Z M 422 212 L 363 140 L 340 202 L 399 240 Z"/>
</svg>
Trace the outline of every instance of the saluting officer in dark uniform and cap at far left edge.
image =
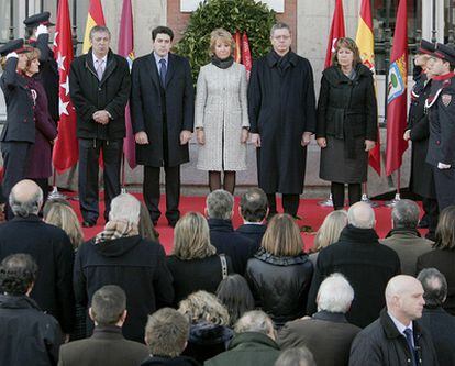
<svg viewBox="0 0 455 366">
<path fill-rule="evenodd" d="M 1 132 L 1 154 L 3 157 L 2 189 L 5 199 L 12 187 L 25 178 L 29 153 L 35 142 L 33 120 L 33 96 L 22 71 L 26 65 L 24 40 L 14 40 L 0 47 L 3 74 L 0 87 L 7 103 L 7 123 Z M 13 218 L 7 207 L 7 219 Z"/>
</svg>

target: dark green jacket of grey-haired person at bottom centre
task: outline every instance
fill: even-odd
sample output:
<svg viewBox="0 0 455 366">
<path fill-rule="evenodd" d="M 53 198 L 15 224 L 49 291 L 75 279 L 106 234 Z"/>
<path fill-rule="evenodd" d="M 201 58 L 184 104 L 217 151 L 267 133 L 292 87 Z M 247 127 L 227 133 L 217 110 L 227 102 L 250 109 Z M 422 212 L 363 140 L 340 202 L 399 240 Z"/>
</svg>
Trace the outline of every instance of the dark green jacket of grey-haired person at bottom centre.
<svg viewBox="0 0 455 366">
<path fill-rule="evenodd" d="M 279 346 L 270 337 L 256 332 L 234 336 L 226 352 L 204 363 L 207 366 L 274 366 L 279 356 Z"/>
</svg>

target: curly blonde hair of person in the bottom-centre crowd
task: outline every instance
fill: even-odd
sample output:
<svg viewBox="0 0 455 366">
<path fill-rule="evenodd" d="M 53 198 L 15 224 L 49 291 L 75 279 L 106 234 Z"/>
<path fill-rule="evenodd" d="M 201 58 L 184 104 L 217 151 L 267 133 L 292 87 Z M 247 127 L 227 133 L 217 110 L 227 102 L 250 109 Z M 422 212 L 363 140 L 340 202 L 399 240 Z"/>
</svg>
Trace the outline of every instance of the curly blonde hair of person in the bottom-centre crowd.
<svg viewBox="0 0 455 366">
<path fill-rule="evenodd" d="M 208 321 L 218 325 L 229 325 L 228 309 L 213 295 L 207 291 L 197 291 L 181 300 L 178 311 L 188 317 L 190 323 Z"/>
</svg>

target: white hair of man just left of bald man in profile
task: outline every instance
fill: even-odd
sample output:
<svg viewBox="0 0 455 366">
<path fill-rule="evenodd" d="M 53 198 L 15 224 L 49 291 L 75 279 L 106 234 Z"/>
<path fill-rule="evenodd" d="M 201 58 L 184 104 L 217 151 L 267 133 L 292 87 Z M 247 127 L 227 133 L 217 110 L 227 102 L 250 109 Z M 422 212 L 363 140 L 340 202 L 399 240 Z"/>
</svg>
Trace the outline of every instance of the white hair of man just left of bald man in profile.
<svg viewBox="0 0 455 366">
<path fill-rule="evenodd" d="M 339 273 L 325 278 L 318 291 L 318 311 L 346 313 L 354 300 L 354 289 Z"/>
</svg>

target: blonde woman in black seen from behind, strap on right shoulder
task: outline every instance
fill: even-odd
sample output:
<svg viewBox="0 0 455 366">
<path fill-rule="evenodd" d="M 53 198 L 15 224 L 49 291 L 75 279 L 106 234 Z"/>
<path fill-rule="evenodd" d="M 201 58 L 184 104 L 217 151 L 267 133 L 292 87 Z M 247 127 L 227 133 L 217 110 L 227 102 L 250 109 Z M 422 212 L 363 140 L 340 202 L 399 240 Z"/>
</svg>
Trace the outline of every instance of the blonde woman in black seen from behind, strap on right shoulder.
<svg viewBox="0 0 455 366">
<path fill-rule="evenodd" d="M 210 244 L 209 224 L 199 212 L 188 212 L 177 221 L 167 267 L 174 278 L 175 306 L 199 290 L 215 293 L 221 280 L 233 273 L 231 258 L 217 255 Z"/>
</svg>

